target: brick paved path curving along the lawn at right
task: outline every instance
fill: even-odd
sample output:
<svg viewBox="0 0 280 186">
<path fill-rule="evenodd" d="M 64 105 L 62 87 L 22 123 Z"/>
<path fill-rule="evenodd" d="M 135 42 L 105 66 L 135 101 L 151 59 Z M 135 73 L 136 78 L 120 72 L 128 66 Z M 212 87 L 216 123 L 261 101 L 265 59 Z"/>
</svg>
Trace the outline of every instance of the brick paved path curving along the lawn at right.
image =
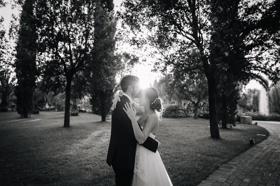
<svg viewBox="0 0 280 186">
<path fill-rule="evenodd" d="M 280 122 L 254 122 L 270 136 L 219 167 L 198 186 L 280 186 Z"/>
</svg>

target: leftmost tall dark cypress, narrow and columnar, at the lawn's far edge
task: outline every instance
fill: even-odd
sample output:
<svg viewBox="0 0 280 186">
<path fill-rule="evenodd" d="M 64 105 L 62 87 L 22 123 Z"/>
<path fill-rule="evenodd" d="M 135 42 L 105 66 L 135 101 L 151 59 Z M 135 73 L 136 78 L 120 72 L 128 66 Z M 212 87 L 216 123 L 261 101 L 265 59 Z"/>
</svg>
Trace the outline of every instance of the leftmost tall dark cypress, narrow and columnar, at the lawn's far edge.
<svg viewBox="0 0 280 186">
<path fill-rule="evenodd" d="M 23 117 L 28 117 L 32 112 L 32 96 L 36 87 L 35 81 L 38 75 L 36 68 L 36 40 L 38 36 L 36 33 L 36 21 L 33 9 L 34 0 L 26 0 L 22 6 L 16 46 L 16 107 L 18 113 Z"/>
</svg>

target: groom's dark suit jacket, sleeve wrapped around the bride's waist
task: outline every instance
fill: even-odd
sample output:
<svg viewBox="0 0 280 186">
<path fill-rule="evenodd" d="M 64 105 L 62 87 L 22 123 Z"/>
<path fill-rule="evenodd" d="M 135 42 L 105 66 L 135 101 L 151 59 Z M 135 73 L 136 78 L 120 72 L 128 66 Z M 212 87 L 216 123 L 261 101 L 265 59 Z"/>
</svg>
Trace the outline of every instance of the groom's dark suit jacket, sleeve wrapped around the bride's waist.
<svg viewBox="0 0 280 186">
<path fill-rule="evenodd" d="M 126 102 L 129 103 L 130 101 L 128 97 L 123 95 L 121 101 L 117 103 L 116 108 L 112 111 L 111 139 L 106 162 L 114 168 L 133 170 L 136 144 L 138 142 L 134 136 L 131 120 L 123 110 Z M 148 137 L 141 145 L 155 153 L 158 142 Z"/>
</svg>

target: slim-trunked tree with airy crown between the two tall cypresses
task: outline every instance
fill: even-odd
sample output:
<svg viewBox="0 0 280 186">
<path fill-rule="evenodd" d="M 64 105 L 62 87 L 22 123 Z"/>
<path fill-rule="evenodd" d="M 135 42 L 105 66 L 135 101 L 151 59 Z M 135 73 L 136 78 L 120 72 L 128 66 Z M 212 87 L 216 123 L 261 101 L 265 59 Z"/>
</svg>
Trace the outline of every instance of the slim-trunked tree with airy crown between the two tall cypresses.
<svg viewBox="0 0 280 186">
<path fill-rule="evenodd" d="M 95 1 L 41 1 L 36 12 L 43 15 L 38 14 L 40 51 L 50 58 L 44 67 L 66 79 L 64 127 L 69 127 L 72 79 L 84 70 L 92 48 Z"/>
</svg>

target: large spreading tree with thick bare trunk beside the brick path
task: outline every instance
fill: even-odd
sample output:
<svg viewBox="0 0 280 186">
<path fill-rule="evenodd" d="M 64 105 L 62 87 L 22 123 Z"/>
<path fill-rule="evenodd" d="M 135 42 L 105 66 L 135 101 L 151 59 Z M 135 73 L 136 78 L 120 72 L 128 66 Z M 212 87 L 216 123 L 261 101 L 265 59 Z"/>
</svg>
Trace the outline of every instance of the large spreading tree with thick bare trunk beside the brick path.
<svg viewBox="0 0 280 186">
<path fill-rule="evenodd" d="M 124 29 L 128 26 L 126 30 L 133 34 L 130 43 L 139 48 L 147 45 L 149 48 L 155 48 L 151 50 L 152 52 L 148 50 L 146 52 L 154 56 L 158 64 L 164 64 L 162 72 L 168 72 L 174 68 L 174 64 L 186 66 L 186 71 L 182 72 L 182 75 L 191 75 L 195 70 L 202 69 L 208 80 L 210 133 L 212 138 L 219 138 L 220 103 L 217 98 L 220 94 L 219 88 L 222 87 L 220 80 L 226 79 L 224 77 L 227 77 L 227 74 L 230 76 L 234 74 L 228 72 L 234 72 L 235 67 L 237 70 L 240 67 L 243 69 L 241 72 L 245 74 L 244 76 L 237 73 L 239 79 L 243 77 L 242 81 L 240 80 L 242 83 L 258 79 L 260 75 L 252 73 L 254 71 L 264 71 L 272 79 L 275 78 L 274 80 L 279 78 L 279 74 L 276 73 L 279 72 L 277 67 L 279 54 L 276 52 L 279 50 L 277 45 L 279 19 L 276 9 L 278 2 L 271 1 L 269 6 L 267 5 L 267 1 L 258 1 L 251 5 L 245 1 L 127 0 L 124 1 L 124 11 L 120 13 L 120 17 L 124 20 Z M 273 18 L 273 21 L 277 21 L 270 31 L 268 25 L 263 24 L 269 15 L 272 15 L 270 18 Z M 273 38 L 273 42 L 270 42 L 271 35 L 276 38 Z M 230 39 L 232 42 L 229 42 Z M 267 62 L 265 62 L 267 56 L 262 55 L 263 50 L 273 53 L 273 57 Z M 192 57 L 195 53 L 196 58 Z M 227 63 L 230 59 L 227 55 L 235 59 Z M 230 64 L 232 67 L 229 67 Z M 237 78 L 233 78 L 231 82 L 232 88 L 228 92 L 236 92 L 234 87 L 239 84 Z M 237 93 L 232 103 L 236 103 L 236 100 Z"/>
</svg>

